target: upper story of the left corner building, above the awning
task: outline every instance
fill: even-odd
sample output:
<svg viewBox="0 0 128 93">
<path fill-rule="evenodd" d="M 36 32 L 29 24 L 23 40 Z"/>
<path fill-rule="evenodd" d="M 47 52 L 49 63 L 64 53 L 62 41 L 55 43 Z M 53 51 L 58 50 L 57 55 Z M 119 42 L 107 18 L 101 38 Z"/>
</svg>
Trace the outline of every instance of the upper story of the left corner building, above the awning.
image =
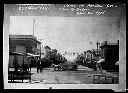
<svg viewBox="0 0 128 93">
<path fill-rule="evenodd" d="M 39 54 L 40 44 L 32 35 L 9 35 L 9 50 L 12 52 Z"/>
</svg>

